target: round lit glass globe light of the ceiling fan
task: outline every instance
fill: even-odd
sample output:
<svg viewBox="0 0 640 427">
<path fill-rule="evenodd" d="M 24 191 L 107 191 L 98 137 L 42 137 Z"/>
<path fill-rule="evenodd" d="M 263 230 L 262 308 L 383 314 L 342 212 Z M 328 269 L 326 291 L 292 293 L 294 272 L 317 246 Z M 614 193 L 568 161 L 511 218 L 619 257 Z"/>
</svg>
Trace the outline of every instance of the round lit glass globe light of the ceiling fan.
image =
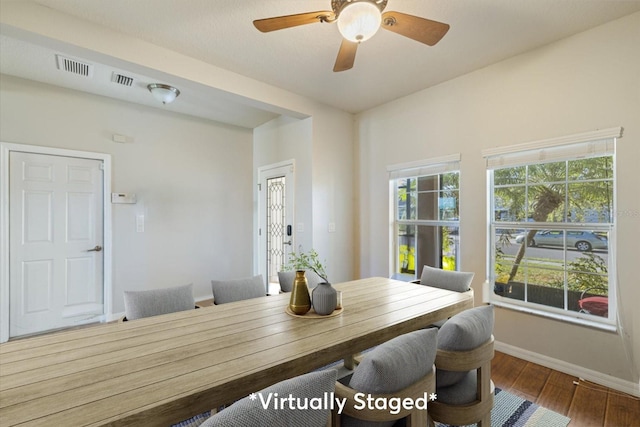
<svg viewBox="0 0 640 427">
<path fill-rule="evenodd" d="M 380 28 L 382 14 L 380 9 L 369 1 L 354 1 L 340 11 L 338 30 L 342 37 L 361 43 L 369 40 Z"/>
</svg>

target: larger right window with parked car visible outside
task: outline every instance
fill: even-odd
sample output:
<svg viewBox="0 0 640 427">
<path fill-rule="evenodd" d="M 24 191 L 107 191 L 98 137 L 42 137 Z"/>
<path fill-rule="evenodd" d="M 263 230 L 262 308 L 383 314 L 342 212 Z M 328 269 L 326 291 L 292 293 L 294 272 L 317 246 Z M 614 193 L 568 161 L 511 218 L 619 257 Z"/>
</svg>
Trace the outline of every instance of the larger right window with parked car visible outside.
<svg viewBox="0 0 640 427">
<path fill-rule="evenodd" d="M 489 300 L 615 325 L 615 142 L 611 129 L 485 152 Z"/>
</svg>

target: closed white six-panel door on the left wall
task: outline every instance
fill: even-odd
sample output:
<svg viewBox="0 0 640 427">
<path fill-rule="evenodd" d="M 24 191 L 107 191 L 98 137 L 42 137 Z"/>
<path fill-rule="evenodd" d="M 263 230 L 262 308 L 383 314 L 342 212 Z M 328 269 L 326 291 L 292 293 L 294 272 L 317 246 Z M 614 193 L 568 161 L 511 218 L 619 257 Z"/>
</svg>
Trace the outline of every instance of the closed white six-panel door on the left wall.
<svg viewBox="0 0 640 427">
<path fill-rule="evenodd" d="M 102 163 L 10 152 L 11 337 L 104 314 Z"/>
</svg>

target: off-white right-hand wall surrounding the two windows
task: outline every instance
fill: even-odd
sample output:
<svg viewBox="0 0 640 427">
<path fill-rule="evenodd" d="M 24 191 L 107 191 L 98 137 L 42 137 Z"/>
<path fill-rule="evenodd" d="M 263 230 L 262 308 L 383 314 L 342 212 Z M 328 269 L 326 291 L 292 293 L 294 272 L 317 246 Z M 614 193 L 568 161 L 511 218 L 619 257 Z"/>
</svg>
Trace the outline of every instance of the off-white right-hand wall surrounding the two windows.
<svg viewBox="0 0 640 427">
<path fill-rule="evenodd" d="M 615 246 L 618 334 L 497 309 L 498 341 L 638 383 L 640 366 L 640 13 L 367 111 L 358 121 L 360 274 L 387 275 L 386 166 L 461 153 L 461 268 L 486 277 L 481 150 L 624 127 L 618 144 Z M 636 387 L 637 388 L 637 387 Z"/>
</svg>

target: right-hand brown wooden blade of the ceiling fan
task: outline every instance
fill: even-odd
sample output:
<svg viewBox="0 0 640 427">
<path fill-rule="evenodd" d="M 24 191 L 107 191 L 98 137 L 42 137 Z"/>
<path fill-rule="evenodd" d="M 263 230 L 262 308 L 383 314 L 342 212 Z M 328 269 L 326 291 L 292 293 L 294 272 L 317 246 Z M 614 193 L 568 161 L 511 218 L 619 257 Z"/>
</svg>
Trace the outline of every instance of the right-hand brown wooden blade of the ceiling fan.
<svg viewBox="0 0 640 427">
<path fill-rule="evenodd" d="M 382 14 L 382 28 L 433 46 L 449 31 L 449 24 L 400 12 Z"/>
</svg>

